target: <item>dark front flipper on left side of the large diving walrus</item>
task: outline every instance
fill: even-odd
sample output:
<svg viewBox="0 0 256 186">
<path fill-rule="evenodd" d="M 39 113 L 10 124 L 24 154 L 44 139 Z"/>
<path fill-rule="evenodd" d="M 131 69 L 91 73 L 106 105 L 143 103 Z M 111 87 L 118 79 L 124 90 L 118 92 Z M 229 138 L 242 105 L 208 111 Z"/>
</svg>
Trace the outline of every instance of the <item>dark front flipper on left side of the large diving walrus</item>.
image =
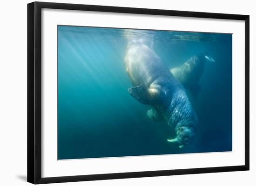
<svg viewBox="0 0 256 186">
<path fill-rule="evenodd" d="M 148 88 L 145 86 L 145 84 L 141 84 L 139 86 L 129 88 L 128 91 L 131 96 L 133 96 L 142 104 L 151 103 Z"/>
</svg>

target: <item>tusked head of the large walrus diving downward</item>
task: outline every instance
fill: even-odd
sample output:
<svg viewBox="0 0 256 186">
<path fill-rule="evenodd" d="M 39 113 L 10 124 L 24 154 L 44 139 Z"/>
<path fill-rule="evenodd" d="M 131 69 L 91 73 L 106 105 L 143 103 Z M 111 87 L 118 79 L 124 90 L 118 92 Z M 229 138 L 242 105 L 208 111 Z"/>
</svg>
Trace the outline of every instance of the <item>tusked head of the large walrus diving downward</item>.
<svg viewBox="0 0 256 186">
<path fill-rule="evenodd" d="M 185 145 L 190 145 L 195 137 L 195 128 L 193 126 L 176 126 L 176 138 L 168 139 L 169 142 L 178 142 L 181 145 L 179 148 L 183 148 Z"/>
</svg>

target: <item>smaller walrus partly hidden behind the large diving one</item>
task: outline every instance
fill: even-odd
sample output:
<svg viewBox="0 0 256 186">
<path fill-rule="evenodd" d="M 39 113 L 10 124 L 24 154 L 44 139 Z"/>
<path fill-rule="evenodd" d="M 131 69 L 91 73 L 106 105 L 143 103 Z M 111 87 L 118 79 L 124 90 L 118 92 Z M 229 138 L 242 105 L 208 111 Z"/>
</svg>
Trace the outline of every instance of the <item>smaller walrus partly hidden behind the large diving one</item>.
<svg viewBox="0 0 256 186">
<path fill-rule="evenodd" d="M 202 76 L 204 64 L 207 61 L 215 62 L 207 52 L 201 52 L 189 58 L 189 60 L 180 66 L 170 69 L 174 77 L 182 83 L 185 89 L 190 91 L 195 100 L 201 90 L 201 86 L 198 82 Z"/>
</svg>

